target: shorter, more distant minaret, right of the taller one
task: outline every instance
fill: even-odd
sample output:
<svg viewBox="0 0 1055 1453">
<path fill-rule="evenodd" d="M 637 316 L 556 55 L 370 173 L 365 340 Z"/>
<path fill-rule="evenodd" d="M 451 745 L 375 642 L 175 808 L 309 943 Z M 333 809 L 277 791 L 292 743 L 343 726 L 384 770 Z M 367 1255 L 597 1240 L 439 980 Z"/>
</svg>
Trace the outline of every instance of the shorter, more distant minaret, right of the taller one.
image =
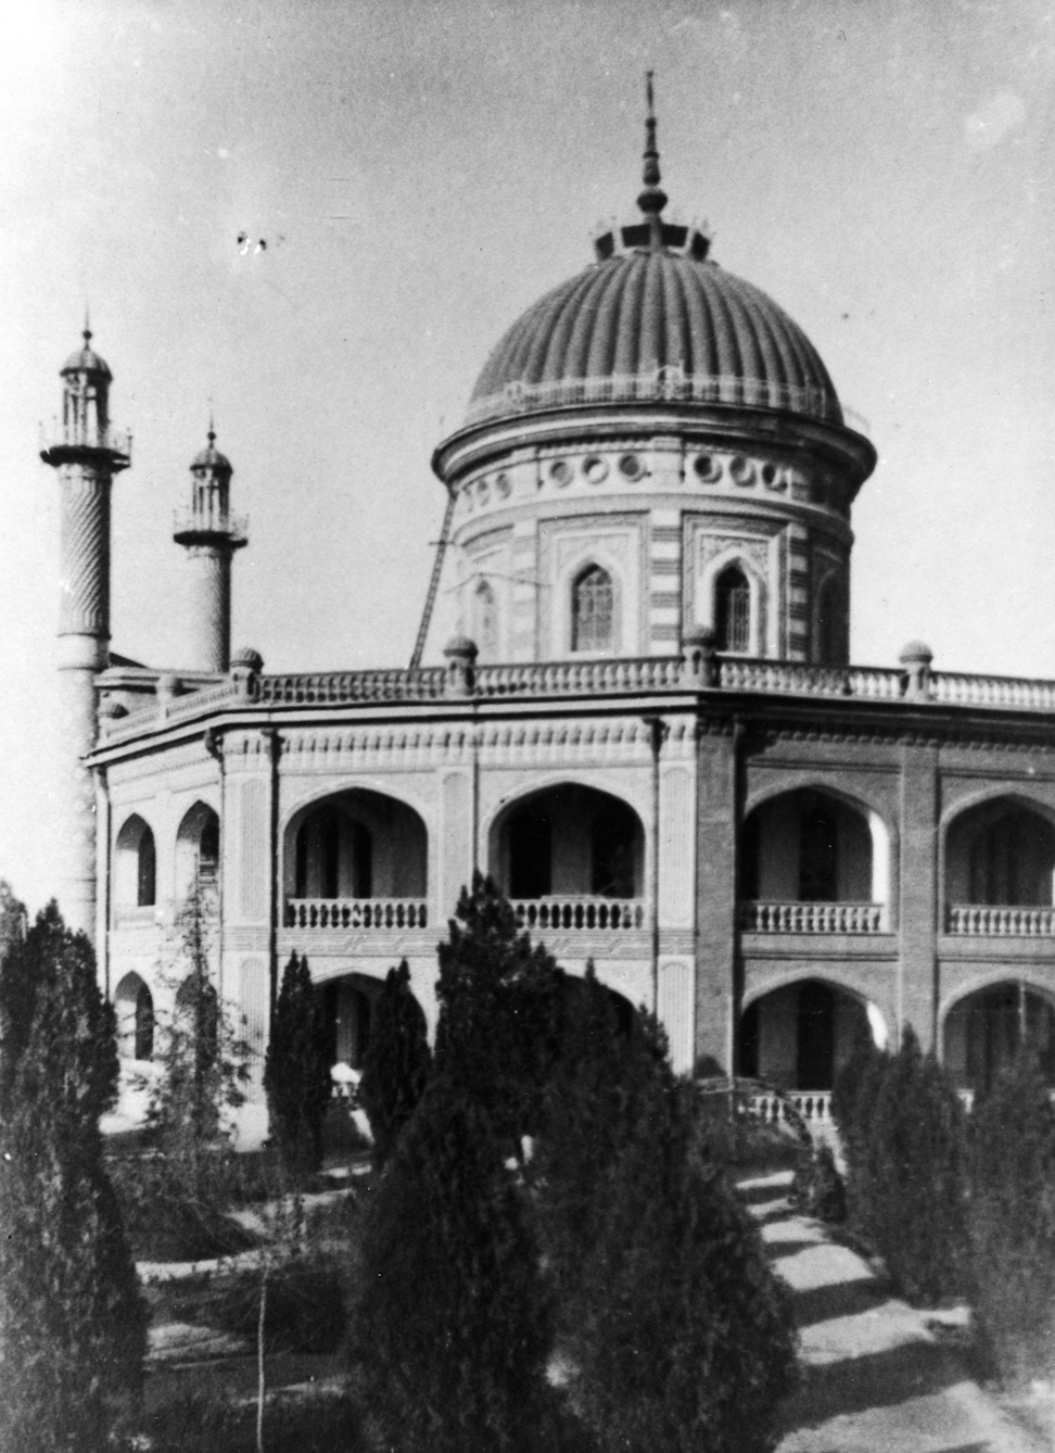
<svg viewBox="0 0 1055 1453">
<path fill-rule="evenodd" d="M 190 504 L 176 514 L 173 539 L 185 545 L 195 572 L 190 594 L 192 660 L 201 671 L 231 664 L 231 556 L 248 543 L 246 520 L 231 514 L 231 462 L 208 445 L 190 465 Z"/>
</svg>

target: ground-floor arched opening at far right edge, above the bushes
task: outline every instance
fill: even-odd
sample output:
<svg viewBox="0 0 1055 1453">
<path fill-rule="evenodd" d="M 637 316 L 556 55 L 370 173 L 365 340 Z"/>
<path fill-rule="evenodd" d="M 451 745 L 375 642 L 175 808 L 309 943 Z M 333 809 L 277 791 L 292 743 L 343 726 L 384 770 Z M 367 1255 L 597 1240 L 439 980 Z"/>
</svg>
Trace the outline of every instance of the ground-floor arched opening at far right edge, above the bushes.
<svg viewBox="0 0 1055 1453">
<path fill-rule="evenodd" d="M 1024 981 L 993 984 L 958 1000 L 942 1036 L 947 1074 L 963 1090 L 985 1093 L 1022 1051 L 1055 1085 L 1055 1008 Z"/>
</svg>

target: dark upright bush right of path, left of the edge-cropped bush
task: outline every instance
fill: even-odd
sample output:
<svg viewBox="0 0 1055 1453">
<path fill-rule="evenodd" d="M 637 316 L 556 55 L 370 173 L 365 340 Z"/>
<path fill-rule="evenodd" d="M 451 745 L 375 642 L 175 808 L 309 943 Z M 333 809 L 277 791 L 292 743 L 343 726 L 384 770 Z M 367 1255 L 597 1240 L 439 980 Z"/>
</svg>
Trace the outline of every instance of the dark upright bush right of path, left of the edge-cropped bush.
<svg viewBox="0 0 1055 1453">
<path fill-rule="evenodd" d="M 963 1112 L 911 1029 L 897 1055 L 866 1068 L 850 1125 L 853 1229 L 910 1300 L 961 1295 L 968 1283 Z"/>
</svg>

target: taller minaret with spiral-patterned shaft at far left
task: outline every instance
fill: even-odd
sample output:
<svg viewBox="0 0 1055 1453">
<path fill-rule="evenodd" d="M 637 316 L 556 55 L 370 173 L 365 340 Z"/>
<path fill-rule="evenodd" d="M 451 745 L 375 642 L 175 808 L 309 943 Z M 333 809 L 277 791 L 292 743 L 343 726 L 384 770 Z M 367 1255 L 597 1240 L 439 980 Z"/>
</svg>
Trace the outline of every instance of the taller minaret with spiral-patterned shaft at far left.
<svg viewBox="0 0 1055 1453">
<path fill-rule="evenodd" d="M 61 580 L 58 615 L 60 728 L 65 770 L 58 792 L 57 889 L 65 921 L 89 937 L 96 930 L 94 783 L 84 754 L 96 742 L 96 671 L 110 644 L 110 484 L 131 464 L 131 439 L 109 420 L 112 375 L 84 344 L 61 369 L 62 424 L 41 450 L 58 469 Z"/>
</svg>

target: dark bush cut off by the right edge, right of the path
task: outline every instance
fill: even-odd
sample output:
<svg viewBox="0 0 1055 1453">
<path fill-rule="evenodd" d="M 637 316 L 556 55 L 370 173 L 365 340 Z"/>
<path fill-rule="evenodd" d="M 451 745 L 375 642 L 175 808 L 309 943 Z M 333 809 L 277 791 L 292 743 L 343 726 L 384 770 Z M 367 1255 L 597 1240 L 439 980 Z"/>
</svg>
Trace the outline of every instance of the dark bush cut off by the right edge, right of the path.
<svg viewBox="0 0 1055 1453">
<path fill-rule="evenodd" d="M 969 1132 L 975 1315 L 1020 1386 L 1055 1363 L 1055 1110 L 1029 1056 L 975 1106 Z"/>
</svg>

